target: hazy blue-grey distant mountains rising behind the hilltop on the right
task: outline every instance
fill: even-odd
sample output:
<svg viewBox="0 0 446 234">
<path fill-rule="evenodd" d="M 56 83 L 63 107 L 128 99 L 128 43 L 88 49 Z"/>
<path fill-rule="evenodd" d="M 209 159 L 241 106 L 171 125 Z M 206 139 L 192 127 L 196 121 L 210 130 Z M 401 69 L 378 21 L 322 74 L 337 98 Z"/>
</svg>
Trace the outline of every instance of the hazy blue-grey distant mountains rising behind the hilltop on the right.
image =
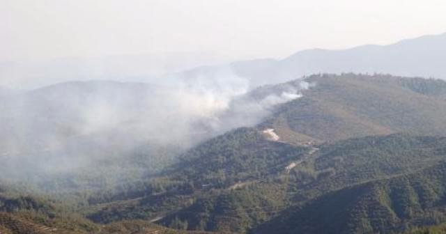
<svg viewBox="0 0 446 234">
<path fill-rule="evenodd" d="M 446 33 L 402 40 L 392 45 L 363 45 L 351 49 L 308 49 L 286 59 L 239 61 L 226 66 L 197 68 L 189 76 L 212 76 L 233 70 L 253 86 L 277 84 L 317 73 L 384 73 L 405 77 L 446 79 Z"/>
</svg>

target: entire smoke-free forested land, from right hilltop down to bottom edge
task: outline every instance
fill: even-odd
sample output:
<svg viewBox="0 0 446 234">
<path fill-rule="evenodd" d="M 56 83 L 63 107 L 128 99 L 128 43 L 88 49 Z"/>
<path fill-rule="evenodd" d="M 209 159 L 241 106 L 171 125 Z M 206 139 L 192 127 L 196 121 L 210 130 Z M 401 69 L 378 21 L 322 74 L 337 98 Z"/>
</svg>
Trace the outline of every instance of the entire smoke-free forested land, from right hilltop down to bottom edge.
<svg viewBox="0 0 446 234">
<path fill-rule="evenodd" d="M 138 171 L 118 181 L 107 173 L 32 187 L 3 180 L 0 232 L 444 232 L 446 82 L 354 74 L 305 81 L 312 86 L 302 98 L 258 125 L 189 148 L 128 151 L 122 166 Z M 104 162 L 100 170 L 113 173 L 116 164 Z"/>
</svg>

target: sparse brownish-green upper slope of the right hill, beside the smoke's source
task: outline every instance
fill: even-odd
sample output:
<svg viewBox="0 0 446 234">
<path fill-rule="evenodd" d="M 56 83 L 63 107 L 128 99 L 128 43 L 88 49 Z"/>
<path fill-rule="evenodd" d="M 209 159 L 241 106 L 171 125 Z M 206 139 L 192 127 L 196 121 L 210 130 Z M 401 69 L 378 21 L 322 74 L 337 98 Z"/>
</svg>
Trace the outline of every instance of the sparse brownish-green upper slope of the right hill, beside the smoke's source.
<svg viewBox="0 0 446 234">
<path fill-rule="evenodd" d="M 303 98 L 287 102 L 267 121 L 284 137 L 336 141 L 394 132 L 443 134 L 446 82 L 390 75 L 313 75 Z M 287 84 L 293 85 L 293 82 Z M 288 132 L 287 132 L 288 131 Z M 300 136 L 299 136 L 300 135 Z M 295 141 L 292 139 L 289 141 Z"/>
</svg>

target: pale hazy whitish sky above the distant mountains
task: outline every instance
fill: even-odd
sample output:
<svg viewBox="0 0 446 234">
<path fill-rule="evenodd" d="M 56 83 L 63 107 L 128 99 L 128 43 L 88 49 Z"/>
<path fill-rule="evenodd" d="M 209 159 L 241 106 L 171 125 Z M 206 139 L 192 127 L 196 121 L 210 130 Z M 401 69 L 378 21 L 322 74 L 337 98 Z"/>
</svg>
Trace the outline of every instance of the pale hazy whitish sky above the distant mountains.
<svg viewBox="0 0 446 234">
<path fill-rule="evenodd" d="M 446 32 L 444 0 L 0 0 L 0 61 L 213 52 L 281 57 Z"/>
</svg>

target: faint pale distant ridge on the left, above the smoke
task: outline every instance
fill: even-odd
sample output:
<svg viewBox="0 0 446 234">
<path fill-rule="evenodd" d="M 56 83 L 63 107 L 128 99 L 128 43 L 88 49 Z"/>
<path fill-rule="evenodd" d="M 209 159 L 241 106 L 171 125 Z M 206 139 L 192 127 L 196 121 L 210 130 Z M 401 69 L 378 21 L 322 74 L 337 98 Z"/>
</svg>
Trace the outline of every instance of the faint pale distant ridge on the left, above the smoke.
<svg viewBox="0 0 446 234">
<path fill-rule="evenodd" d="M 0 86 L 31 89 L 67 81 L 153 81 L 166 73 L 229 61 L 226 56 L 184 52 L 0 62 Z"/>
</svg>

